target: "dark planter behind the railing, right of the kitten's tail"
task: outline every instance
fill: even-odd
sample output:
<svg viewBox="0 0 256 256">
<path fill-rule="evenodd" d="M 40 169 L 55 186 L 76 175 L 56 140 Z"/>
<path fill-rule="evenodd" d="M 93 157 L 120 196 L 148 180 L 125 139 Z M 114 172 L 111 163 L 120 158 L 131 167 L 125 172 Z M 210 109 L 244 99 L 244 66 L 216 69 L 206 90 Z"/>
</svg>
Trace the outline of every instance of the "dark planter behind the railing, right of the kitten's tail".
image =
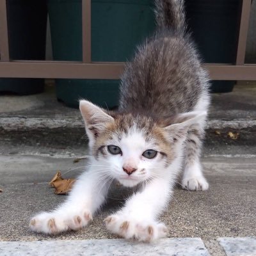
<svg viewBox="0 0 256 256">
<path fill-rule="evenodd" d="M 235 63 L 240 0 L 187 0 L 189 31 L 206 63 Z M 231 92 L 236 81 L 212 81 L 212 92 Z"/>
</svg>

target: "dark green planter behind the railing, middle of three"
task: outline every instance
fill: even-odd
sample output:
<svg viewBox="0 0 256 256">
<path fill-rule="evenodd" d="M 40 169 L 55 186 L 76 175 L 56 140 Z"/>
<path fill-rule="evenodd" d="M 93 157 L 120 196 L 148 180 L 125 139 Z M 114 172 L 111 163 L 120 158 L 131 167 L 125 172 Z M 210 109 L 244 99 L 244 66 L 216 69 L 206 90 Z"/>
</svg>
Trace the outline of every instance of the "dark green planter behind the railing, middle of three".
<svg viewBox="0 0 256 256">
<path fill-rule="evenodd" d="M 82 60 L 81 0 L 48 0 L 54 60 Z M 127 61 L 154 31 L 153 0 L 92 0 L 92 61 Z M 118 104 L 119 80 L 56 79 L 56 95 L 68 106 L 88 99 Z"/>
</svg>

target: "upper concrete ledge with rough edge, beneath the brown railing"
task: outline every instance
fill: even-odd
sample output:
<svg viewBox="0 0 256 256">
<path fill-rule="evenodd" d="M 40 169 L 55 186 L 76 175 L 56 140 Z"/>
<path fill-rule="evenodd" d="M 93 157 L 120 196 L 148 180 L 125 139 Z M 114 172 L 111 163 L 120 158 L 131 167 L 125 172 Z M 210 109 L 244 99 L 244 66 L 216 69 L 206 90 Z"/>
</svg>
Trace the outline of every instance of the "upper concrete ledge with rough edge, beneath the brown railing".
<svg viewBox="0 0 256 256">
<path fill-rule="evenodd" d="M 255 83 L 239 83 L 230 93 L 212 93 L 207 129 L 256 131 Z M 52 86 L 28 96 L 0 95 L 0 131 L 83 129 L 78 109 L 58 102 Z"/>
</svg>

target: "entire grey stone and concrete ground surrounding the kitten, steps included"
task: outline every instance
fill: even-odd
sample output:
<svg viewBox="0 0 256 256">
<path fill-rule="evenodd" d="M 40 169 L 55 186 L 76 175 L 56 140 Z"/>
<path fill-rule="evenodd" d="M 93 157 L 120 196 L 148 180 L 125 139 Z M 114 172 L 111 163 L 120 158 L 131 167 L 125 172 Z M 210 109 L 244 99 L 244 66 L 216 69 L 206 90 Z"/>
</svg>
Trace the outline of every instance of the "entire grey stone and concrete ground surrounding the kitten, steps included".
<svg viewBox="0 0 256 256">
<path fill-rule="evenodd" d="M 47 184 L 57 170 L 65 178 L 77 177 L 86 166 L 86 159 L 73 162 L 88 154 L 83 122 L 79 111 L 57 102 L 51 90 L 0 96 L 0 255 L 255 256 L 255 120 L 253 84 L 213 95 L 202 154 L 210 188 L 190 192 L 177 185 L 161 216 L 168 238 L 137 244 L 107 232 L 102 220 L 129 193 L 118 186 L 88 227 L 44 236 L 28 230 L 29 218 L 65 200 Z M 236 140 L 230 131 L 239 133 Z"/>
</svg>

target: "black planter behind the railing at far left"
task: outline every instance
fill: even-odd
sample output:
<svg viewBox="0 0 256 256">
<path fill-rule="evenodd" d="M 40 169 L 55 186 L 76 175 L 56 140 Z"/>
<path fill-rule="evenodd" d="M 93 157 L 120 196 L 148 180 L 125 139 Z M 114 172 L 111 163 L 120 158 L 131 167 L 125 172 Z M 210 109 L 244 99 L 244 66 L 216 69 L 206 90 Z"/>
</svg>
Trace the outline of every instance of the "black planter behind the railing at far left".
<svg viewBox="0 0 256 256">
<path fill-rule="evenodd" d="M 47 22 L 45 0 L 6 1 L 9 52 L 12 60 L 44 60 Z M 0 78 L 0 92 L 40 93 L 44 79 Z"/>
</svg>

